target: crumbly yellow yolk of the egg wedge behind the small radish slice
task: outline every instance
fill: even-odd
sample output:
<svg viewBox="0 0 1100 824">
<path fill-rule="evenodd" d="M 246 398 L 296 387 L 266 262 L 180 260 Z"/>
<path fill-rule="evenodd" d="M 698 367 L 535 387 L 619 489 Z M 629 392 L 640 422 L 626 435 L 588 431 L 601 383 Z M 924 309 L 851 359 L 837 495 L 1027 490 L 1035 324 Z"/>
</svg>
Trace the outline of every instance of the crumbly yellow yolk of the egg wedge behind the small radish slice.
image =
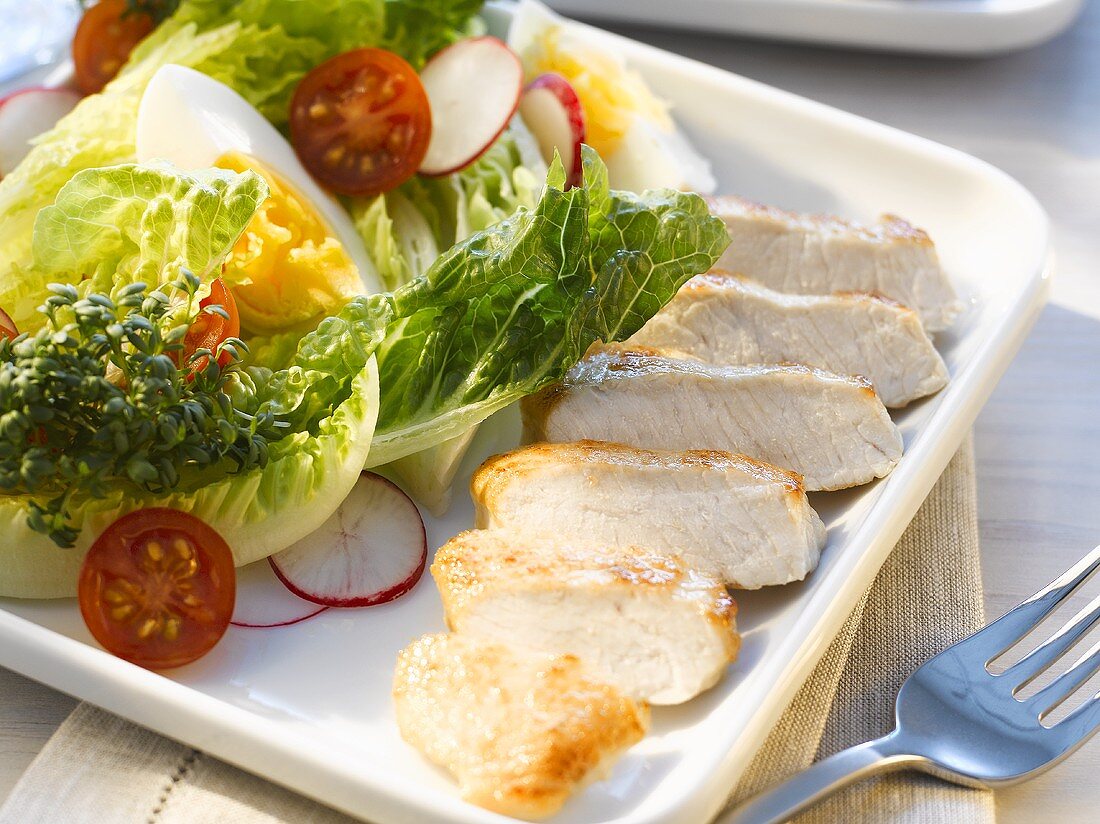
<svg viewBox="0 0 1100 824">
<path fill-rule="evenodd" d="M 584 109 L 584 142 L 604 156 L 618 149 L 636 117 L 672 128 L 668 107 L 640 76 L 615 55 L 563 35 L 558 26 L 547 29 L 525 52 L 524 65 L 530 77 L 554 72 L 569 80 Z"/>
</svg>

